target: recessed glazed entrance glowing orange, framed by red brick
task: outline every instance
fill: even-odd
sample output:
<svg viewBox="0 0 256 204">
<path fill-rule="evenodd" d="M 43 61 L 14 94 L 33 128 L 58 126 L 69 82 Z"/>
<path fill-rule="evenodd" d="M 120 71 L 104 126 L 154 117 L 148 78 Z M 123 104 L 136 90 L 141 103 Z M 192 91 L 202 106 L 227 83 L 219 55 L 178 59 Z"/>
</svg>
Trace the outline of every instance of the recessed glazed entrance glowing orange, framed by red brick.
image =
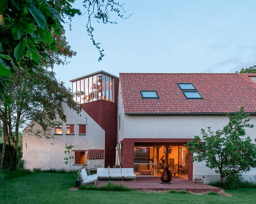
<svg viewBox="0 0 256 204">
<path fill-rule="evenodd" d="M 167 166 L 174 177 L 188 178 L 188 149 L 184 145 L 134 146 L 138 176 L 161 176 Z"/>
</svg>

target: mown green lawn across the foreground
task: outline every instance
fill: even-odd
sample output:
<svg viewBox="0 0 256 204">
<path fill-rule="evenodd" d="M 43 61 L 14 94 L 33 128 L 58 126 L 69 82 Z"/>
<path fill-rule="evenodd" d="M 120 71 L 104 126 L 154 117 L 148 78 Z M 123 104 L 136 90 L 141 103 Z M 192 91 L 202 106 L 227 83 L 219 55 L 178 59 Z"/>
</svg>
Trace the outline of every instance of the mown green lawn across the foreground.
<svg viewBox="0 0 256 204">
<path fill-rule="evenodd" d="M 70 191 L 70 173 L 33 173 L 0 186 L 0 203 L 255 203 L 256 189 L 227 190 L 233 197 L 175 193 Z"/>
</svg>

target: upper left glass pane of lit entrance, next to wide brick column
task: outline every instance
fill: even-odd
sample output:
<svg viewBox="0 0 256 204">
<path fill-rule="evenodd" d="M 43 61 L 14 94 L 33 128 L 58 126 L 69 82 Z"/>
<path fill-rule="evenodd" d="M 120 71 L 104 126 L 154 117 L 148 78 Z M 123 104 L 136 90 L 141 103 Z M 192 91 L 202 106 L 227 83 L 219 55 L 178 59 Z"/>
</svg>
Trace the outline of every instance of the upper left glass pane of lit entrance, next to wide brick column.
<svg viewBox="0 0 256 204">
<path fill-rule="evenodd" d="M 134 163 L 154 163 L 154 147 L 134 147 Z"/>
</svg>

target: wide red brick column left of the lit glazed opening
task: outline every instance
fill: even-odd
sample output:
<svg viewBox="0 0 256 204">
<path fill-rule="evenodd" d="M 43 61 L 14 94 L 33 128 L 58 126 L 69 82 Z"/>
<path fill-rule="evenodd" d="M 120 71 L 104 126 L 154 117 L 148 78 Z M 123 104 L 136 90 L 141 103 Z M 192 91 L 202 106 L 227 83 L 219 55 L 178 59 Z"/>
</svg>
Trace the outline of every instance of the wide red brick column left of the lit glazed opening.
<svg viewBox="0 0 256 204">
<path fill-rule="evenodd" d="M 134 168 L 134 141 L 123 139 L 122 144 L 122 167 Z"/>
</svg>

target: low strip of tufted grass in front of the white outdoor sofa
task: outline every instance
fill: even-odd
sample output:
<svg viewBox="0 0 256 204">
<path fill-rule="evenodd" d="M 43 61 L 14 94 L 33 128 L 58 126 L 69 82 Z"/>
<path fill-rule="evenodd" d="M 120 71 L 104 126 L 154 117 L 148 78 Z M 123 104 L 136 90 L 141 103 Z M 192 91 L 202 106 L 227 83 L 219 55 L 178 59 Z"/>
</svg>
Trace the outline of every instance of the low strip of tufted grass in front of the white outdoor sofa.
<svg viewBox="0 0 256 204">
<path fill-rule="evenodd" d="M 123 185 L 116 185 L 108 183 L 106 186 L 96 187 L 93 185 L 90 186 L 80 186 L 79 190 L 94 190 L 94 191 L 133 191 L 132 188 L 127 188 Z"/>
</svg>

